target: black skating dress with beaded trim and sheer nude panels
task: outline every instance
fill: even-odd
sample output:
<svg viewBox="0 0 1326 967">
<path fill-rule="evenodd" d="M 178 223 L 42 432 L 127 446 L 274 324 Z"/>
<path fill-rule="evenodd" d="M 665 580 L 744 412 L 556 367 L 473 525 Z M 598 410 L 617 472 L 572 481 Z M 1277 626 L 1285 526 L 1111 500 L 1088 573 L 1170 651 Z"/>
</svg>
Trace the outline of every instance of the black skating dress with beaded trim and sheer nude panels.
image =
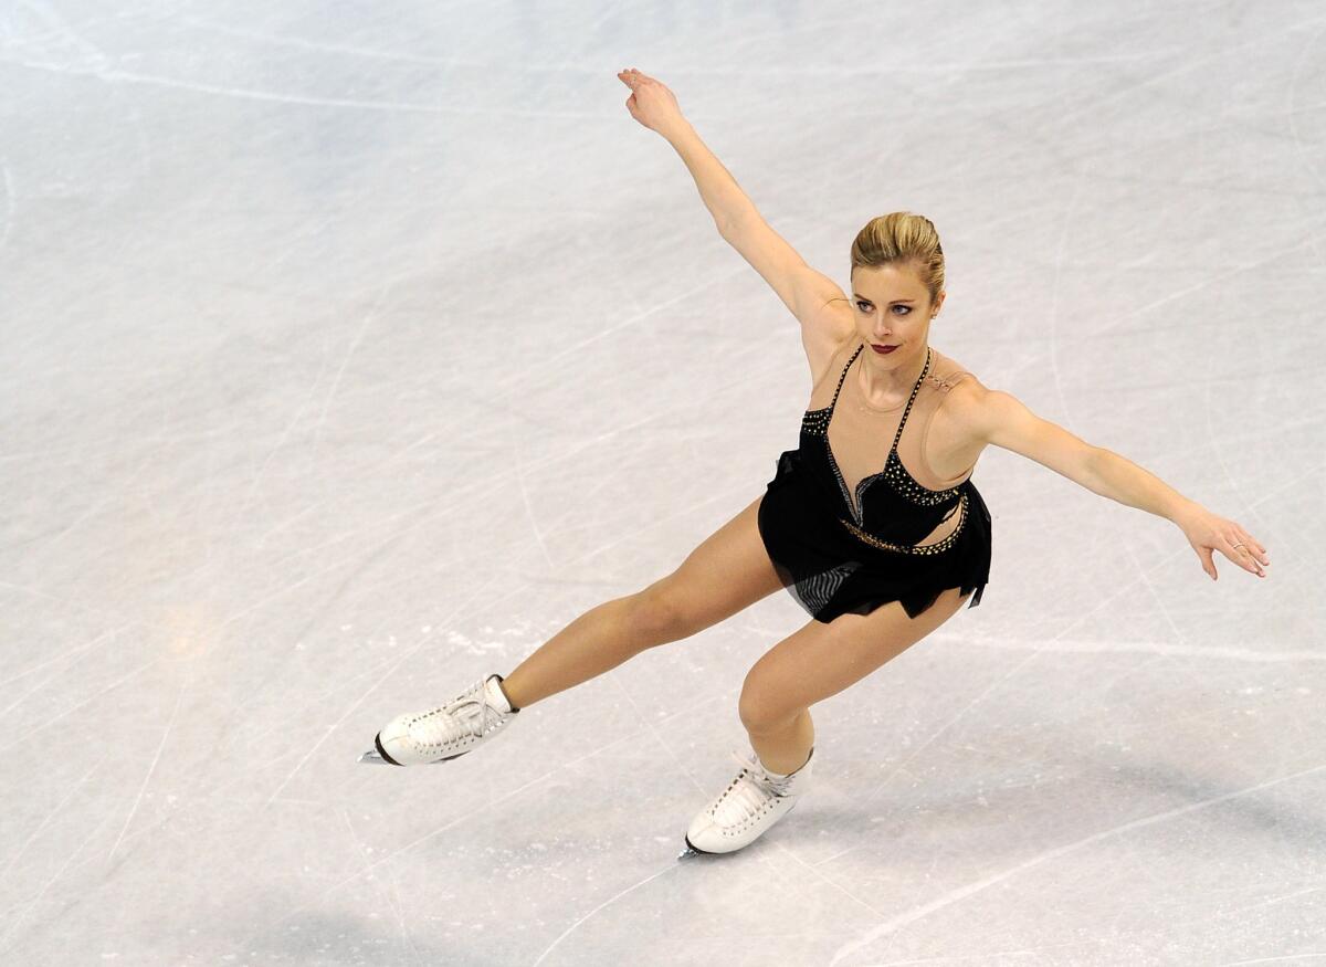
<svg viewBox="0 0 1326 967">
<path fill-rule="evenodd" d="M 927 348 L 926 367 L 906 409 L 845 406 L 833 419 L 847 370 L 863 349 L 866 344 L 858 345 L 843 366 L 833 402 L 806 410 L 801 446 L 778 456 L 777 474 L 760 501 L 765 549 L 782 586 L 817 621 L 830 622 L 847 612 L 869 614 L 890 601 L 902 602 L 915 618 L 948 588 L 960 588 L 963 594 L 975 590 L 968 605 L 975 608 L 989 580 L 989 511 L 971 482 L 972 468 L 957 483 L 941 482 L 924 470 L 924 443 L 935 410 L 944 394 L 971 374 L 935 375 L 936 354 Z M 951 361 L 943 362 L 948 369 Z M 859 395 L 855 383 L 853 393 Z M 839 454 L 861 454 L 851 466 L 841 467 L 834 459 L 830 422 Z M 912 430 L 903 440 L 906 426 Z M 888 435 L 892 446 L 880 459 L 880 440 Z M 949 485 L 931 489 L 919 483 L 903 466 L 900 450 L 927 479 Z M 879 466 L 882 471 L 865 474 Z M 843 470 L 850 479 L 859 476 L 854 488 Z"/>
</svg>

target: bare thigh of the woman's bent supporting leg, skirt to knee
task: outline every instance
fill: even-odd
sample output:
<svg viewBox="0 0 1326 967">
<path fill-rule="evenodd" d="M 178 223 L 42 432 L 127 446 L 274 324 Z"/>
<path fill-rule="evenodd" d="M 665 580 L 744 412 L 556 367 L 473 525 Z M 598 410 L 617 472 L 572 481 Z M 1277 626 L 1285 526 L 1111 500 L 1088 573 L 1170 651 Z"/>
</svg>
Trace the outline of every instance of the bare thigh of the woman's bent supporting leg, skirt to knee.
<svg viewBox="0 0 1326 967">
<path fill-rule="evenodd" d="M 907 617 L 900 602 L 890 601 L 870 614 L 812 621 L 751 669 L 741 688 L 741 720 L 778 722 L 859 682 L 956 614 L 972 594 L 959 597 L 960 590 L 941 592 L 915 618 Z"/>
</svg>

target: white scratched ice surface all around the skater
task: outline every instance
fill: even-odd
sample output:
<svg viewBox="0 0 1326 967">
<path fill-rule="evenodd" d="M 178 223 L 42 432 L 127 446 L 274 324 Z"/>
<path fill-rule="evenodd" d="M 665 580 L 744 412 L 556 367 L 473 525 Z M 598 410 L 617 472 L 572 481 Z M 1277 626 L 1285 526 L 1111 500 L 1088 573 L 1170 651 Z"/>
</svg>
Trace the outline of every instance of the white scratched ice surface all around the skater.
<svg viewBox="0 0 1326 967">
<path fill-rule="evenodd" d="M 991 585 L 678 864 L 770 596 L 357 764 L 764 492 L 810 390 L 619 69 L 849 284 L 1245 527 L 991 447 Z M 1217 964 L 1326 950 L 1317 3 L 0 3 L 0 962 Z"/>
</svg>

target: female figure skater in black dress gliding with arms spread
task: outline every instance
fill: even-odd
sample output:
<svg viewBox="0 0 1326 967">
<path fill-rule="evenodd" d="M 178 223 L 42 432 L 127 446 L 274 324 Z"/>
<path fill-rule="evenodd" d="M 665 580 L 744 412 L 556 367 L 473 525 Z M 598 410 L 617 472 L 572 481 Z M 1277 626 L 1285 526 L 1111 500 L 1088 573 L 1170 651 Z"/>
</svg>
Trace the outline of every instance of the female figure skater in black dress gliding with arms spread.
<svg viewBox="0 0 1326 967">
<path fill-rule="evenodd" d="M 1240 524 L 987 389 L 930 345 L 945 292 L 944 253 L 928 219 L 892 212 L 861 229 L 849 300 L 764 222 L 667 86 L 635 69 L 618 78 L 631 89 L 631 117 L 672 145 L 719 233 L 801 324 L 813 389 L 800 446 L 780 455 L 765 492 L 675 572 L 586 612 L 505 678 L 488 675 L 440 708 L 398 716 L 362 760 L 412 765 L 465 755 L 522 708 L 781 588 L 812 619 L 747 674 L 737 711 L 753 755 L 735 753 L 741 771 L 686 834 L 697 853 L 741 849 L 809 785 L 810 707 L 911 647 L 965 601 L 980 601 L 991 516 L 971 476 L 987 446 L 1174 521 L 1212 580 L 1216 550 L 1266 576 L 1266 548 Z"/>
</svg>

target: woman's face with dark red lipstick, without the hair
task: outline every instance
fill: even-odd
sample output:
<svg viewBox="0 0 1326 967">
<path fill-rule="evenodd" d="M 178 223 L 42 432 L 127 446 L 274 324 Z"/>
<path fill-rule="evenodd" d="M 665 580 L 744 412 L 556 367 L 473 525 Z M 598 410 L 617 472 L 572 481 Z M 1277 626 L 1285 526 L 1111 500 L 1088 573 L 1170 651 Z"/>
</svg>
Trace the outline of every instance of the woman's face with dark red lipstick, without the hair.
<svg viewBox="0 0 1326 967">
<path fill-rule="evenodd" d="M 863 342 L 898 346 L 887 355 L 871 353 L 874 362 L 890 367 L 924 353 L 931 317 L 944 296 L 931 305 L 930 292 L 910 265 L 858 267 L 851 273 L 851 309 L 857 334 Z"/>
</svg>

